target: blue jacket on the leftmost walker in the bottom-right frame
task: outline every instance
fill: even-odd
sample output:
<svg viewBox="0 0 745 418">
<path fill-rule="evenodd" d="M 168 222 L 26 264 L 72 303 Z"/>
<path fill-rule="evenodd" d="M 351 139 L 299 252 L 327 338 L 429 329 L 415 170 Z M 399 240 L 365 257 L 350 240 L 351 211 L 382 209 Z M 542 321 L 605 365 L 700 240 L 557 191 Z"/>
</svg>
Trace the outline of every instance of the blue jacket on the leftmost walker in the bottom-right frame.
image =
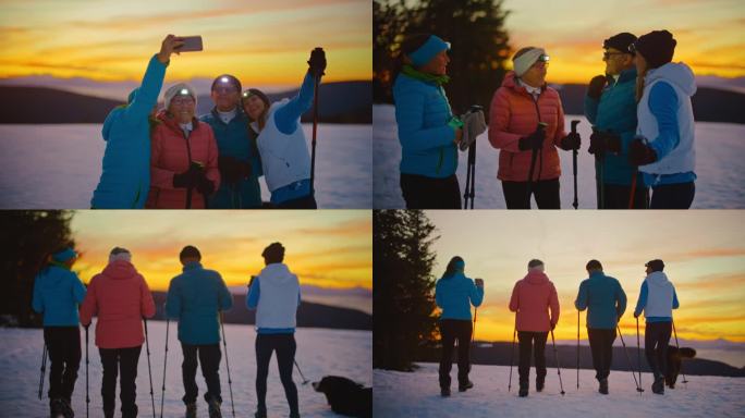
<svg viewBox="0 0 745 418">
<path fill-rule="evenodd" d="M 435 286 L 435 302 L 442 309 L 440 319 L 471 320 L 471 305 L 476 307 L 484 300 L 484 287 L 474 284 L 462 272 L 443 276 Z"/>
</svg>

